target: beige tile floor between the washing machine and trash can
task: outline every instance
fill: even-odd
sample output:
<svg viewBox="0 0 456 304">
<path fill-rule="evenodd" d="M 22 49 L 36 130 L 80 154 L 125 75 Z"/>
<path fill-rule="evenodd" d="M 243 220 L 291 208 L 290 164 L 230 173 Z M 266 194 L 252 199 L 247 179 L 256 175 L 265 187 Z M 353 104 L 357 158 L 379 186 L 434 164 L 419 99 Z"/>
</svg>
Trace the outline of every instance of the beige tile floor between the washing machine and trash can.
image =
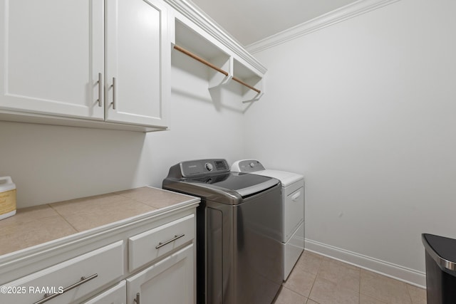
<svg viewBox="0 0 456 304">
<path fill-rule="evenodd" d="M 425 304 L 426 290 L 304 251 L 274 304 Z"/>
</svg>

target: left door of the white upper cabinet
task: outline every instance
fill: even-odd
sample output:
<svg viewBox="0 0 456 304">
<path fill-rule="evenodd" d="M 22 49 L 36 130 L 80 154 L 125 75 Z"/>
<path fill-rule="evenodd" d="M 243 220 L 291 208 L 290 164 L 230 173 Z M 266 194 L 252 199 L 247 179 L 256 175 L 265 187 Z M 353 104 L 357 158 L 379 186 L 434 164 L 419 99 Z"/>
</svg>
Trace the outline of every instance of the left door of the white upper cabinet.
<svg viewBox="0 0 456 304">
<path fill-rule="evenodd" d="M 103 0 L 0 0 L 0 16 L 0 110 L 103 120 Z"/>
</svg>

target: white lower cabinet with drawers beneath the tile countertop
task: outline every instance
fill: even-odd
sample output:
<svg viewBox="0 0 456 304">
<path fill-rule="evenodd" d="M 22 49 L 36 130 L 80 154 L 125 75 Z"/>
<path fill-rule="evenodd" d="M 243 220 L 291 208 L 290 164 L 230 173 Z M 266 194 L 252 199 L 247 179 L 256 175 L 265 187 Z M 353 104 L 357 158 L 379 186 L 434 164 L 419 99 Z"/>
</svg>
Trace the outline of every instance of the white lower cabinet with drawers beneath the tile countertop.
<svg viewBox="0 0 456 304">
<path fill-rule="evenodd" d="M 196 205 L 115 229 L 105 226 L 105 235 L 81 235 L 81 243 L 60 241 L 52 258 L 46 258 L 54 251 L 50 247 L 18 253 L 11 263 L 0 256 L 0 265 L 10 268 L 8 274 L 0 267 L 0 303 L 196 303 Z M 75 248 L 79 253 L 68 256 Z M 35 270 L 15 275 L 24 265 Z"/>
</svg>

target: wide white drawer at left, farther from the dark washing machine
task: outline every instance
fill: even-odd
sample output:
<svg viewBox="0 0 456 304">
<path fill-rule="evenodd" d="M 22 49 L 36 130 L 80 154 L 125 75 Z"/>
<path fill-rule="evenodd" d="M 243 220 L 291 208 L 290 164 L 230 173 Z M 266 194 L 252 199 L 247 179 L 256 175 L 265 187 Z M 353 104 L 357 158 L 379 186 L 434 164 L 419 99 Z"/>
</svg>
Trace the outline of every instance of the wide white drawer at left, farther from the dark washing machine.
<svg viewBox="0 0 456 304">
<path fill-rule="evenodd" d="M 0 303 L 73 303 L 123 276 L 123 241 L 1 286 Z M 6 293 L 3 293 L 3 291 Z M 9 293 L 11 292 L 11 293 Z M 46 298 L 45 294 L 51 295 Z"/>
</svg>

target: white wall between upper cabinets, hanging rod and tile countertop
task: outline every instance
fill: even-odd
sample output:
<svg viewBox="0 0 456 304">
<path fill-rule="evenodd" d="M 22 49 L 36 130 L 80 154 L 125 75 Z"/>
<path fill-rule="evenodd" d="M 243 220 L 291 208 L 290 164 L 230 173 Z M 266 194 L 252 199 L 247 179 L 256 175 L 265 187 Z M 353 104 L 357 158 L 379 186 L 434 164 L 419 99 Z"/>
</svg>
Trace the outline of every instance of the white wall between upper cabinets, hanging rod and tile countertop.
<svg viewBox="0 0 456 304">
<path fill-rule="evenodd" d="M 124 132 L 0 122 L 0 177 L 11 176 L 19 208 L 134 187 L 161 187 L 182 160 L 242 157 L 237 87 L 207 90 L 204 65 L 172 53 L 170 130 Z"/>
</svg>

